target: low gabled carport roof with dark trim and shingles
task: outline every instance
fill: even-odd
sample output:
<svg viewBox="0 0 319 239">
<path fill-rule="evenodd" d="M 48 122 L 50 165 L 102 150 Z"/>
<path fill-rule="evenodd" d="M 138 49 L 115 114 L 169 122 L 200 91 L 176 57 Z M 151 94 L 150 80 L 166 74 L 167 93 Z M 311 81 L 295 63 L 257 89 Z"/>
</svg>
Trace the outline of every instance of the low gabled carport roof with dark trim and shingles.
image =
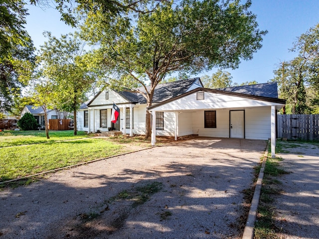
<svg viewBox="0 0 319 239">
<path fill-rule="evenodd" d="M 269 92 L 267 92 L 267 90 Z M 221 89 L 196 88 L 192 91 L 186 92 L 186 93 L 179 95 L 175 98 L 171 98 L 171 99 L 163 101 L 159 104 L 148 107 L 147 109 L 152 110 L 154 108 L 165 105 L 169 102 L 175 101 L 177 99 L 183 98 L 185 96 L 194 94 L 194 93 L 199 92 L 199 91 L 222 94 L 222 95 L 244 97 L 244 98 L 249 98 L 249 99 L 253 99 L 253 100 L 273 102 L 273 103 L 285 105 L 286 100 L 278 99 L 278 93 L 275 94 L 275 90 L 277 92 L 277 82 L 256 84 L 256 85 L 249 85 L 249 86 L 229 87 L 229 88 L 221 88 Z M 245 92 L 245 93 L 243 93 L 243 92 Z M 269 97 L 269 95 L 274 96 L 274 97 Z"/>
</svg>

